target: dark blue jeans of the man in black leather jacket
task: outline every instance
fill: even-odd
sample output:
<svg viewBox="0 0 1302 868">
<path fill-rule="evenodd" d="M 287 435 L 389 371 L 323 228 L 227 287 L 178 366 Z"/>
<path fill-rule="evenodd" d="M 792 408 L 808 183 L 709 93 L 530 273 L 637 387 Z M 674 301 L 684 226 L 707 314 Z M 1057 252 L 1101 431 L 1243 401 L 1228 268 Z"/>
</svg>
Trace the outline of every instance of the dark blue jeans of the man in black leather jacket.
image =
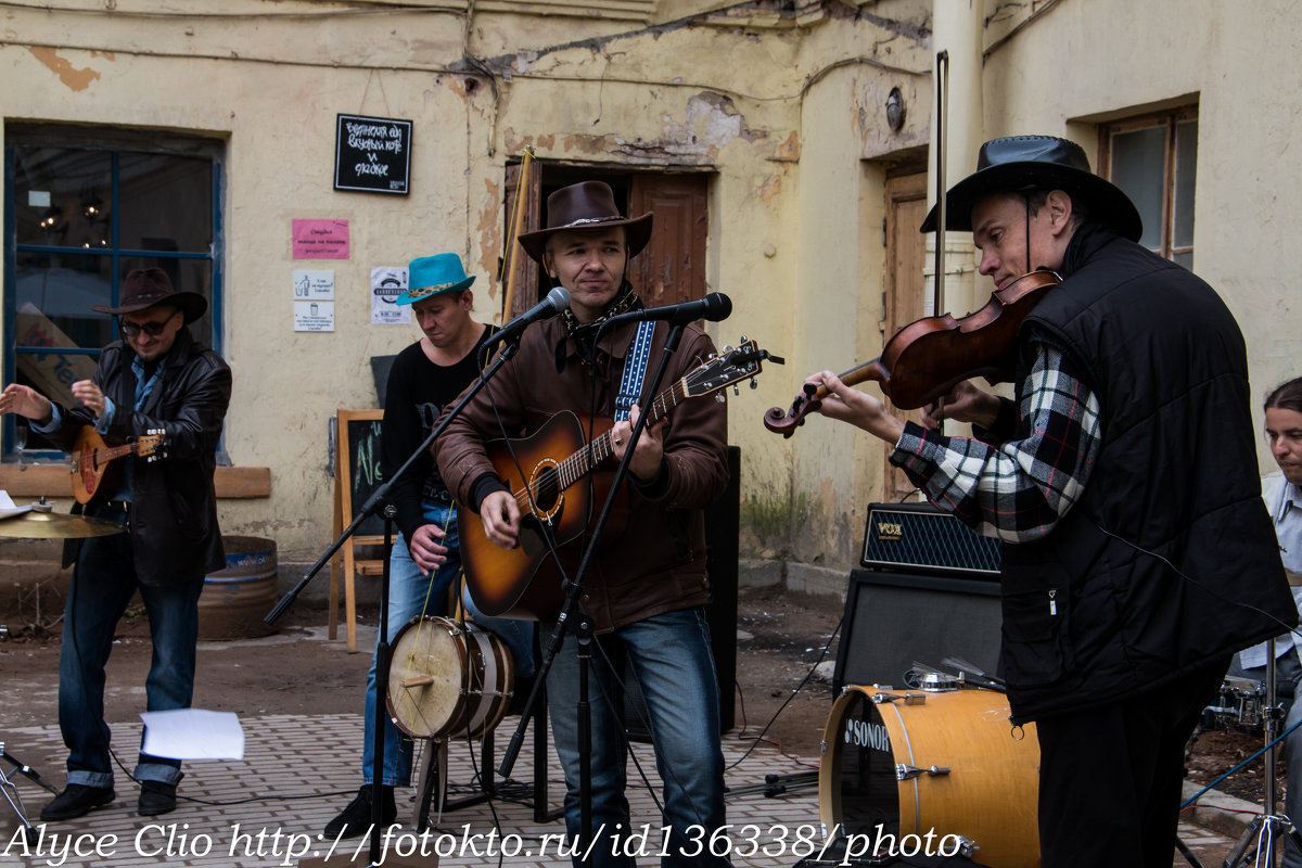
<svg viewBox="0 0 1302 868">
<path fill-rule="evenodd" d="M 121 513 L 95 514 L 126 521 Z M 68 587 L 59 651 L 59 729 L 68 746 L 68 783 L 95 787 L 113 783 L 109 729 L 104 722 L 104 664 L 113 649 L 117 622 L 137 590 L 148 613 L 154 643 L 145 681 L 147 711 L 190 707 L 203 575 L 168 587 L 141 584 L 129 534 L 85 540 Z M 181 780 L 181 761 L 141 751 L 134 777 L 176 783 Z"/>
</svg>

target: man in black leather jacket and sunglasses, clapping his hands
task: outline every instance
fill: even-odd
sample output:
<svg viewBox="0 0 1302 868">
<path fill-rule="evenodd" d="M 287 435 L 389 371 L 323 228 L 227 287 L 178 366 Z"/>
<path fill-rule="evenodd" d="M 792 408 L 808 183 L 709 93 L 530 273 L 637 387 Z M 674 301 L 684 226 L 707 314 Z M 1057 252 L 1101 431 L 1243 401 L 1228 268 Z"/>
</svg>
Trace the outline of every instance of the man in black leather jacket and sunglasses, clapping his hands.
<svg viewBox="0 0 1302 868">
<path fill-rule="evenodd" d="M 0 414 L 27 416 L 33 431 L 61 449 L 70 449 L 85 427 L 108 444 L 163 435 L 161 454 L 115 459 L 120 479 L 115 484 L 105 475 L 85 508 L 87 515 L 126 524 L 128 532 L 69 540 L 64 550 L 65 565 L 77 562 L 59 661 L 68 786 L 40 812 L 42 820 L 79 817 L 116 798 L 104 664 L 135 591 L 154 643 L 148 711 L 190 705 L 203 576 L 225 566 L 212 474 L 230 402 L 230 368 L 186 328 L 206 308 L 198 293 L 174 292 L 160 268 L 132 271 L 118 307 L 92 308 L 121 318 L 122 340 L 104 347 L 91 380 L 73 384 L 79 406 L 61 406 L 18 384 L 0 396 Z M 180 765 L 142 750 L 132 776 L 141 783 L 141 815 L 176 808 Z"/>
</svg>

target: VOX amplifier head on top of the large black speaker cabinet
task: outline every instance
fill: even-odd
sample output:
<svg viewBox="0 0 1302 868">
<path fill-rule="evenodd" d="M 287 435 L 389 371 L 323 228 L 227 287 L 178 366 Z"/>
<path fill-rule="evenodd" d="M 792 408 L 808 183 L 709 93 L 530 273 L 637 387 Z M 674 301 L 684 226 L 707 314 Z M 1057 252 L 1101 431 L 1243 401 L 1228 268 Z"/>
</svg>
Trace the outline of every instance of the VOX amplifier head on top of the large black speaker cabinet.
<svg viewBox="0 0 1302 868">
<path fill-rule="evenodd" d="M 930 504 L 868 504 L 862 566 L 997 580 L 1001 561 L 999 540 Z"/>
</svg>

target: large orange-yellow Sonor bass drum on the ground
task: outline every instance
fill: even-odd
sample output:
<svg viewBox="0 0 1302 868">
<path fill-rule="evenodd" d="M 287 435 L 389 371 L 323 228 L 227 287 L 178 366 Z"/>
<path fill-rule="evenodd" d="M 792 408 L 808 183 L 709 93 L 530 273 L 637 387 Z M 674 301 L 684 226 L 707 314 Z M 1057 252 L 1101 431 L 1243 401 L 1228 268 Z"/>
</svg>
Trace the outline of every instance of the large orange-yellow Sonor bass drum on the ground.
<svg viewBox="0 0 1302 868">
<path fill-rule="evenodd" d="M 931 832 L 936 848 L 962 835 L 980 864 L 1036 868 L 1040 748 L 1034 724 L 1013 729 L 1008 716 L 1008 699 L 990 690 L 848 686 L 823 733 L 823 835 L 857 835 L 861 851 L 865 839 L 885 842 L 879 824 L 897 847 L 904 835 Z"/>
</svg>

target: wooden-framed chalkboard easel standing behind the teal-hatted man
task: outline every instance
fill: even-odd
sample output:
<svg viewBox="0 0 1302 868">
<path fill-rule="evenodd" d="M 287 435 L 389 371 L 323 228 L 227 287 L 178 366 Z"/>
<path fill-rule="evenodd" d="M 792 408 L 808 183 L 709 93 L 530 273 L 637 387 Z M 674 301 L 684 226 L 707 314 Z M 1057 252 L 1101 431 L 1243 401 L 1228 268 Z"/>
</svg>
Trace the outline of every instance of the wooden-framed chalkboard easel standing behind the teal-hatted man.
<svg viewBox="0 0 1302 868">
<path fill-rule="evenodd" d="M 375 489 L 384 483 L 380 471 L 380 431 L 383 410 L 340 410 L 335 416 L 335 537 L 348 527 L 358 510 L 371 498 Z M 384 543 L 384 519 L 370 515 L 358 526 L 357 532 L 340 548 L 331 561 L 329 583 L 329 629 L 327 635 L 333 639 L 339 623 L 340 579 L 344 584 L 344 617 L 348 632 L 348 651 L 357 651 L 357 595 L 353 587 L 355 575 L 380 575 L 384 561 L 358 560 L 355 548 L 359 545 L 380 545 Z M 342 565 L 340 558 L 342 556 Z"/>
</svg>

